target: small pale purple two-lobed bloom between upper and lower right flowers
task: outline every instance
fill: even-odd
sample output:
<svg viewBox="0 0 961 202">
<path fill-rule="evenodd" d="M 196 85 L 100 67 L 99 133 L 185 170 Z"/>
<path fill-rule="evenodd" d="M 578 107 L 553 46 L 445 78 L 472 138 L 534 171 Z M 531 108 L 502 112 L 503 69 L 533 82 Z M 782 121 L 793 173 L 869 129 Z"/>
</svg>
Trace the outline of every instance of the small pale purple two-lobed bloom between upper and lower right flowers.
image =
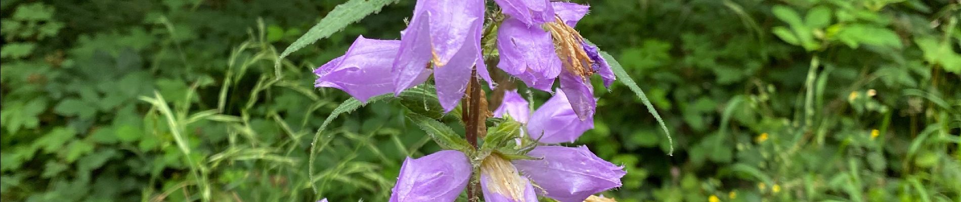
<svg viewBox="0 0 961 202">
<path fill-rule="evenodd" d="M 564 91 L 557 90 L 554 97 L 529 115 L 528 101 L 524 101 L 517 91 L 505 91 L 504 102 L 494 117 L 503 118 L 504 113 L 497 112 L 504 111 L 514 120 L 526 123 L 527 132 L 532 134 L 530 139 L 539 138 L 543 144 L 573 143 L 584 131 L 594 128 L 594 118 L 580 120 L 567 98 Z M 530 120 L 527 119 L 529 116 Z"/>
</svg>

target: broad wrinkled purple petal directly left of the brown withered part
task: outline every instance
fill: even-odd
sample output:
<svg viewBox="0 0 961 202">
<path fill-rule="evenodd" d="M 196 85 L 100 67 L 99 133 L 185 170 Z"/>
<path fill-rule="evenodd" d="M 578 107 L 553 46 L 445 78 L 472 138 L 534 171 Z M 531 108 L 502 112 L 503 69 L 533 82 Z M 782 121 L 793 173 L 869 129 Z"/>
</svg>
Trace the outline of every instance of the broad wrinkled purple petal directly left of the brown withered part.
<svg viewBox="0 0 961 202">
<path fill-rule="evenodd" d="M 498 67 L 528 86 L 551 90 L 554 78 L 561 72 L 551 33 L 508 18 L 498 30 L 497 48 L 501 54 Z"/>
</svg>

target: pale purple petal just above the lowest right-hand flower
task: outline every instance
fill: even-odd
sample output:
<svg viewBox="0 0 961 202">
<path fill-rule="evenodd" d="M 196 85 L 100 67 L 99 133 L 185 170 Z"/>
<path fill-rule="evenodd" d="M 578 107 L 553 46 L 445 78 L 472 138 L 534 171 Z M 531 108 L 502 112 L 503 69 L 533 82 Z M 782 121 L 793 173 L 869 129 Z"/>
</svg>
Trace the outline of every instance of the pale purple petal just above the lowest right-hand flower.
<svg viewBox="0 0 961 202">
<path fill-rule="evenodd" d="M 558 90 L 551 100 L 544 102 L 544 105 L 530 115 L 528 132 L 531 134 L 531 139 L 536 140 L 543 135 L 540 137 L 540 143 L 571 143 L 584 131 L 594 128 L 594 118 L 580 120 L 567 98 L 563 91 Z"/>
</svg>

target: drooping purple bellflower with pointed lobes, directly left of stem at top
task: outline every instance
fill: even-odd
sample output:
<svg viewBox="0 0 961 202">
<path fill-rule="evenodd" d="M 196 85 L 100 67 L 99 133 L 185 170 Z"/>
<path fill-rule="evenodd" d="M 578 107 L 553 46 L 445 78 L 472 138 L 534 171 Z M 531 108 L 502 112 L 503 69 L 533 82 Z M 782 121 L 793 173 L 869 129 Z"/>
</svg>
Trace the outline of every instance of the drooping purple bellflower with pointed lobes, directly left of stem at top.
<svg viewBox="0 0 961 202">
<path fill-rule="evenodd" d="M 433 69 L 437 98 L 450 111 L 475 66 L 491 84 L 480 55 L 483 14 L 483 0 L 418 0 L 391 69 L 394 94 L 419 84 L 421 71 Z"/>
</svg>

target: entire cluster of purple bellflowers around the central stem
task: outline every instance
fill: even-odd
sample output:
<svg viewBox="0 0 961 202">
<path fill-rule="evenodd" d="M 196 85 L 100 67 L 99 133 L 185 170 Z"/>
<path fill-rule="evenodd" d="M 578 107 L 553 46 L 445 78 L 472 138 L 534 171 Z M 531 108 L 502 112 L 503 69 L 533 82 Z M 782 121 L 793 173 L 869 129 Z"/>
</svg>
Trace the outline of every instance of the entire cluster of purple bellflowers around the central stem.
<svg viewBox="0 0 961 202">
<path fill-rule="evenodd" d="M 594 127 L 597 107 L 590 77 L 597 73 L 609 87 L 614 75 L 573 29 L 588 6 L 550 0 L 494 0 L 507 15 L 497 32 L 498 67 L 534 89 L 554 97 L 533 113 L 516 90 L 506 91 L 495 117 L 525 125 L 522 137 L 540 146 L 526 153 L 533 160 L 510 160 L 498 152 L 480 161 L 485 201 L 537 201 L 538 195 L 561 202 L 621 186 L 625 171 L 598 158 L 586 146 L 548 146 L 574 142 Z M 344 56 L 314 71 L 317 87 L 341 89 L 359 101 L 393 92 L 400 94 L 434 78 L 445 112 L 464 97 L 474 71 L 493 88 L 483 62 L 480 37 L 483 0 L 418 0 L 401 40 L 358 36 Z M 554 89 L 554 79 L 560 86 Z M 474 171 L 467 154 L 442 150 L 407 158 L 391 202 L 450 202 L 466 188 Z"/>
</svg>

